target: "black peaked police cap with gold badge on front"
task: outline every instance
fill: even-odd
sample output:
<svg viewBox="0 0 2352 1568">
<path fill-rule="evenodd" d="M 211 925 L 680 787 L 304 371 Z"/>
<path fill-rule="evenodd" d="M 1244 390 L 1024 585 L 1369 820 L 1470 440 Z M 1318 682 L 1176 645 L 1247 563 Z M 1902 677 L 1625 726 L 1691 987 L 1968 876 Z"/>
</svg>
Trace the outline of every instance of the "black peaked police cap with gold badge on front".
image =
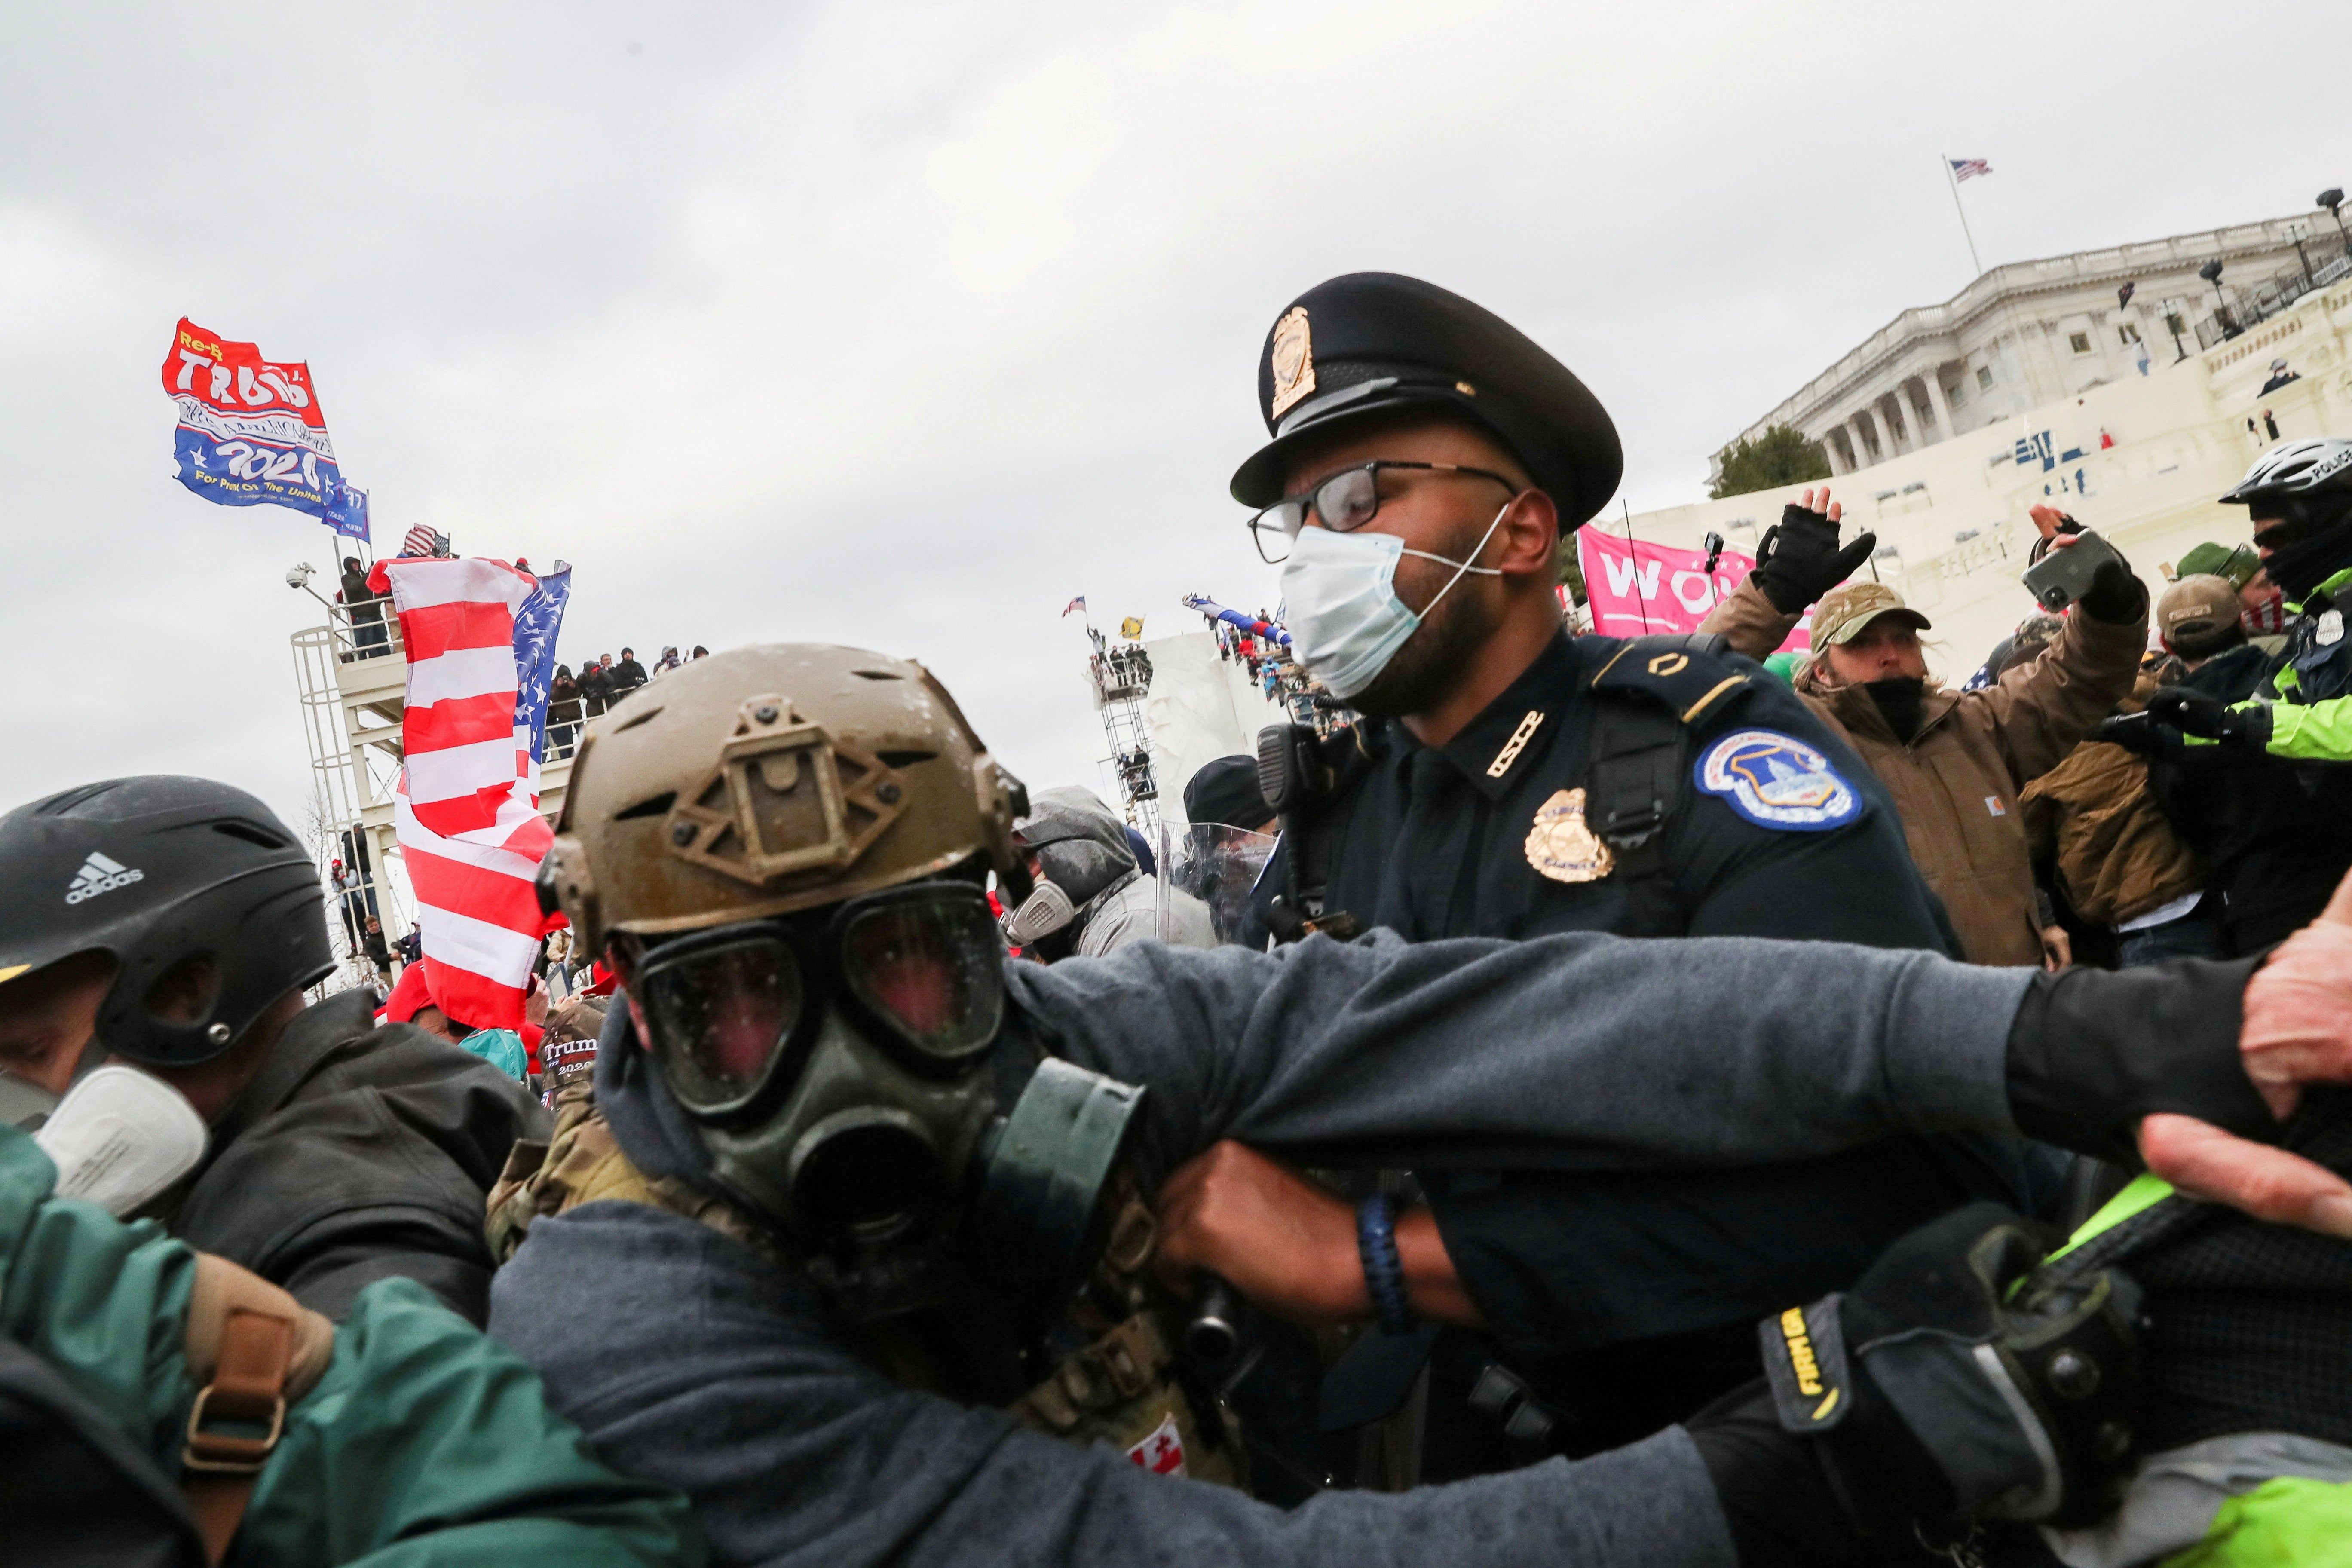
<svg viewBox="0 0 2352 1568">
<path fill-rule="evenodd" d="M 1303 442 L 1397 409 L 1484 425 L 1552 496 L 1562 531 L 1599 512 L 1625 468 L 1609 411 L 1524 331 L 1418 277 L 1348 273 L 1301 294 L 1265 334 L 1258 411 L 1275 440 L 1235 470 L 1232 498 L 1282 501 Z"/>
</svg>

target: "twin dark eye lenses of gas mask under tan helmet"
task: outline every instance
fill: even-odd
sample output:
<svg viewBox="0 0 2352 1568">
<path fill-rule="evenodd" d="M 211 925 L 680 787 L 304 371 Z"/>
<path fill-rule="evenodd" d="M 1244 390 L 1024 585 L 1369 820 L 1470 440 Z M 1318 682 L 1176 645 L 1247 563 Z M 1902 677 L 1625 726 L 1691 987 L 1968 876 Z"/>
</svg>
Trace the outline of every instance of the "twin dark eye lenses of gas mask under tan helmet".
<svg viewBox="0 0 2352 1568">
<path fill-rule="evenodd" d="M 644 954 L 635 990 L 670 1088 L 715 1119 L 797 1081 L 828 997 L 906 1067 L 964 1070 L 1004 1018 L 1002 964 L 988 898 L 964 882 L 920 882 L 854 898 L 828 922 L 668 940 Z"/>
</svg>

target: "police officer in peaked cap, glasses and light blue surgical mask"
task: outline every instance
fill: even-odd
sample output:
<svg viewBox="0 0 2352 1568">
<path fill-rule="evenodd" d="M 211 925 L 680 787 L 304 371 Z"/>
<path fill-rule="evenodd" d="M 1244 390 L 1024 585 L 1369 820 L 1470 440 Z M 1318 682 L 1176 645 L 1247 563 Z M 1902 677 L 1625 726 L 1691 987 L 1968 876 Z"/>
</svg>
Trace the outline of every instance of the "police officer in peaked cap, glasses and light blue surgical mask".
<svg viewBox="0 0 2352 1568">
<path fill-rule="evenodd" d="M 1258 407 L 1272 440 L 1232 494 L 1282 567 L 1294 651 L 1364 715 L 1327 743 L 1261 743 L 1284 825 L 1261 882 L 1277 936 L 1740 933 L 1957 954 L 1882 783 L 1783 682 L 1717 637 L 1562 630 L 1557 545 L 1623 461 L 1559 360 L 1439 287 L 1355 273 L 1279 313 Z M 1759 574 L 1802 607 L 1872 543 L 1792 520 Z M 1771 1300 L 1851 1279 L 1971 1197 L 2032 1208 L 2027 1178 L 2016 1147 L 1905 1140 L 1738 1178 L 1454 1180 L 1430 1197 L 1510 1366 L 1557 1396 L 1557 1441 L 1588 1450 L 1719 1392 Z M 1263 1190 L 1298 1197 L 1275 1171 Z M 1446 1425 L 1494 1359 L 1439 1342 L 1432 1474 L 1524 1458 L 1491 1425 Z"/>
</svg>

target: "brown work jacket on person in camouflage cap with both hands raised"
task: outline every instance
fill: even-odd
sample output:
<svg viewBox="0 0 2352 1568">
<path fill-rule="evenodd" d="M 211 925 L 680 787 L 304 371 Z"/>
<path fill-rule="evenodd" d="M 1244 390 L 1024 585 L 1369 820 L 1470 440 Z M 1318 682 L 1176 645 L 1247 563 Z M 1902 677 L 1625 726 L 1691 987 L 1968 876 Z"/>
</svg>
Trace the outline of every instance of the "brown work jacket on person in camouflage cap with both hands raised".
<svg viewBox="0 0 2352 1568">
<path fill-rule="evenodd" d="M 1797 625 L 1755 585 L 1740 583 L 1700 623 L 1750 658 L 1764 658 Z M 1879 776 L 1896 799 L 1919 875 L 1943 898 L 1971 964 L 2042 964 L 2034 872 L 2018 795 L 2105 719 L 2131 691 L 2147 646 L 2147 616 L 2107 625 L 2065 618 L 2030 665 L 1983 691 L 1929 689 L 1919 733 L 1905 745 L 1870 693 L 1828 686 L 1818 665 L 1797 675 L 1797 696 Z"/>
</svg>

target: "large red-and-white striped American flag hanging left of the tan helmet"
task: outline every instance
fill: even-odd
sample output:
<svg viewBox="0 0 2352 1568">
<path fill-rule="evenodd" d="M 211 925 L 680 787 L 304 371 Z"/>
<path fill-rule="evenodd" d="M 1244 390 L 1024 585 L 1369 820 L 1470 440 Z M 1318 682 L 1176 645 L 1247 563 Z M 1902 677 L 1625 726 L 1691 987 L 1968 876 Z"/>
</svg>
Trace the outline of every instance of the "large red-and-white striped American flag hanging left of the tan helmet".
<svg viewBox="0 0 2352 1568">
<path fill-rule="evenodd" d="M 539 578 L 492 559 L 381 559 L 367 585 L 390 590 L 409 651 L 393 825 L 426 985 L 452 1018 L 520 1027 L 539 940 L 562 924 L 539 912 L 534 879 L 555 830 L 539 816 L 534 733 L 517 722 L 532 708 L 517 618 L 539 644 L 532 602 L 546 595 Z M 543 642 L 553 646 L 553 628 Z"/>
</svg>

